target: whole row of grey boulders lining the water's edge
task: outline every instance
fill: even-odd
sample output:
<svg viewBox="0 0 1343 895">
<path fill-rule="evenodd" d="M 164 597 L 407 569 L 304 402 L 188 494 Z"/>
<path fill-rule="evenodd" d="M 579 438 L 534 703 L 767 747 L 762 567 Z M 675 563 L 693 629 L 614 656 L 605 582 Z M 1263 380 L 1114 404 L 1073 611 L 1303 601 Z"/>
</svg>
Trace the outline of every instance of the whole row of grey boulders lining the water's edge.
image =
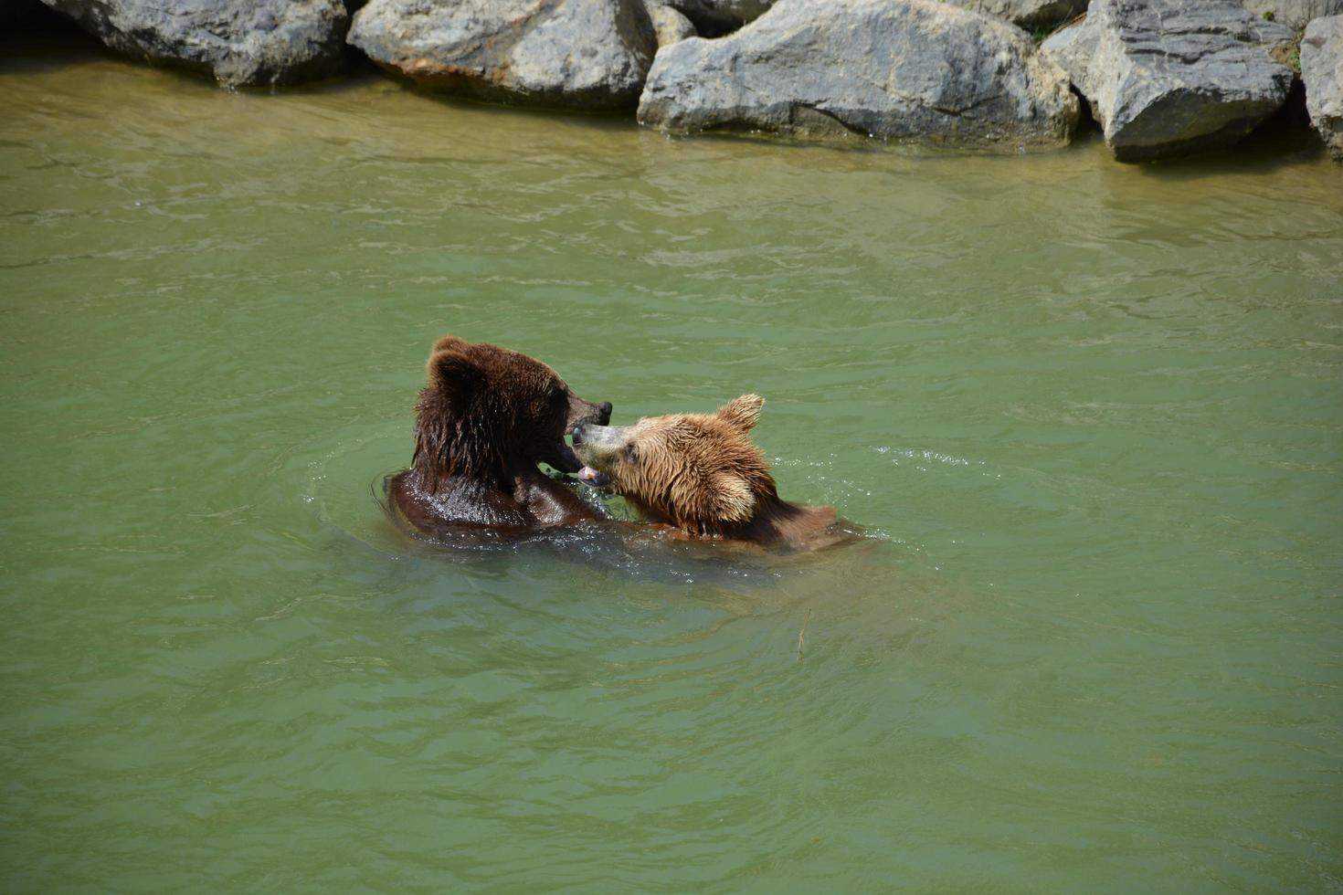
<svg viewBox="0 0 1343 895">
<path fill-rule="evenodd" d="M 328 79 L 363 55 L 428 91 L 669 133 L 1025 150 L 1093 123 L 1120 162 L 1232 152 L 1304 97 L 1295 118 L 1343 164 L 1343 0 L 42 3 L 230 89 Z"/>
</svg>

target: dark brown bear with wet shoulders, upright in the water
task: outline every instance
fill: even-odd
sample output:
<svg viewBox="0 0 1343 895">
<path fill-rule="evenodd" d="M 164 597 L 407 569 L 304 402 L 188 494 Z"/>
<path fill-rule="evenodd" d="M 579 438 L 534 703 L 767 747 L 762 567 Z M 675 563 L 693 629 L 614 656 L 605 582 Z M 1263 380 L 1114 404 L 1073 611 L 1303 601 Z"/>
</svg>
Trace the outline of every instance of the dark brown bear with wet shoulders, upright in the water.
<svg viewBox="0 0 1343 895">
<path fill-rule="evenodd" d="M 454 335 L 434 342 L 415 405 L 411 468 L 388 476 L 388 507 L 424 534 L 525 533 L 604 519 L 537 468 L 582 468 L 564 436 L 611 421 L 611 404 L 569 390 L 541 361 Z"/>
</svg>

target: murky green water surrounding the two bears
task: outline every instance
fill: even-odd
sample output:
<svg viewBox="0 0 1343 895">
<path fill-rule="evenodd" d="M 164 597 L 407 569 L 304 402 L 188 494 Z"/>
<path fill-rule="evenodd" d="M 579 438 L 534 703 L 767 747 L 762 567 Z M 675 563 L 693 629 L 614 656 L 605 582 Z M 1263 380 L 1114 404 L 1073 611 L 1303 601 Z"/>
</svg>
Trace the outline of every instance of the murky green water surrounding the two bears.
<svg viewBox="0 0 1343 895">
<path fill-rule="evenodd" d="M 1343 170 L 0 63 L 4 891 L 1343 887 Z M 431 341 L 792 561 L 402 541 Z M 654 545 L 655 546 L 655 545 Z M 802 657 L 798 635 L 806 625 Z"/>
</svg>

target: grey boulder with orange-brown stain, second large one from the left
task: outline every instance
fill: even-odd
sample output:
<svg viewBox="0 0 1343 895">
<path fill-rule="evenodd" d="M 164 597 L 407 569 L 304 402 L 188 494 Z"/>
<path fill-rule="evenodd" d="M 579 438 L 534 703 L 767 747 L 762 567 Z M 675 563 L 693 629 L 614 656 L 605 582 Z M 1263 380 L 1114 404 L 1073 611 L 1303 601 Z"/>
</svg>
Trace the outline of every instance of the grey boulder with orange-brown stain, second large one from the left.
<svg viewBox="0 0 1343 895">
<path fill-rule="evenodd" d="M 428 90 L 569 109 L 633 107 L 657 52 L 642 0 L 369 0 L 349 42 Z"/>
</svg>

